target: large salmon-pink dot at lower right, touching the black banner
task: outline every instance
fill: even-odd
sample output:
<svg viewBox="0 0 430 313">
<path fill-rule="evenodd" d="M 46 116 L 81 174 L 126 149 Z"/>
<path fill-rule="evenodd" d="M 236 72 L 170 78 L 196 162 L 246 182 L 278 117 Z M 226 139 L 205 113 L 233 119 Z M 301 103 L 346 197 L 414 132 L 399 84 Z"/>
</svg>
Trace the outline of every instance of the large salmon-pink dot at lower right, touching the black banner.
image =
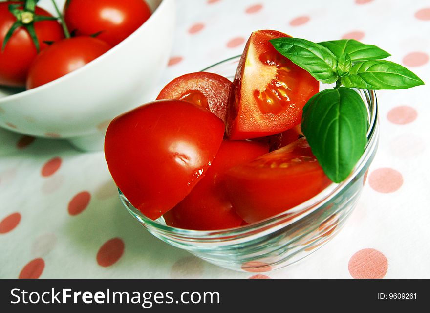
<svg viewBox="0 0 430 313">
<path fill-rule="evenodd" d="M 388 261 L 375 249 L 363 249 L 349 259 L 348 270 L 353 278 L 383 278 L 387 274 Z"/>
</svg>

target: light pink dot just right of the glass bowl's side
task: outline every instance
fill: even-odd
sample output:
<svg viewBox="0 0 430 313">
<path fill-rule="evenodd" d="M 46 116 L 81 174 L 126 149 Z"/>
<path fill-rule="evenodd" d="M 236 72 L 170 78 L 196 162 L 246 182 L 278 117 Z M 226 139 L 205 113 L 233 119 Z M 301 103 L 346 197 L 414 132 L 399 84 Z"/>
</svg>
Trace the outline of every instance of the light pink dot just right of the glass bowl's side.
<svg viewBox="0 0 430 313">
<path fill-rule="evenodd" d="M 377 192 L 394 192 L 402 187 L 403 176 L 392 168 L 379 168 L 370 173 L 369 185 Z"/>
</svg>

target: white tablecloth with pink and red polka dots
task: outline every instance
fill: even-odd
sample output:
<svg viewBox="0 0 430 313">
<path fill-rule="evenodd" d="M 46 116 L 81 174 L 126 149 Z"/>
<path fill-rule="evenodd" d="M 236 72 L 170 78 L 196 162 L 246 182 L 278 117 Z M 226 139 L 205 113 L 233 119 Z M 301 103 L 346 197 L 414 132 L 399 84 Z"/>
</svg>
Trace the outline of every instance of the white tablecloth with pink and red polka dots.
<svg viewBox="0 0 430 313">
<path fill-rule="evenodd" d="M 165 83 L 241 53 L 253 30 L 381 46 L 427 85 L 378 91 L 381 137 L 344 229 L 289 268 L 240 273 L 149 234 L 121 205 L 102 152 L 0 130 L 1 278 L 430 278 L 430 3 L 177 0 Z M 1 112 L 0 112 L 1 114 Z"/>
</svg>

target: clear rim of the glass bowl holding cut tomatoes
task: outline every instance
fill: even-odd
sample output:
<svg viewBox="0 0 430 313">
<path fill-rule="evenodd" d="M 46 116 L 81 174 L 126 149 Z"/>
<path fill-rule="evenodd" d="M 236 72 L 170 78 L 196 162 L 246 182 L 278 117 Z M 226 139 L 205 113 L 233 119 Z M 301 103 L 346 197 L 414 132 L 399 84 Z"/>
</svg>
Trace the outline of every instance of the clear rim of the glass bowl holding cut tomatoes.
<svg viewBox="0 0 430 313">
<path fill-rule="evenodd" d="M 239 59 L 240 55 L 234 56 L 223 61 L 217 62 L 214 65 L 206 67 L 201 71 L 206 71 L 211 69 L 212 67 L 218 66 L 220 64 Z M 138 209 L 136 209 L 124 196 L 121 190 L 118 188 L 118 192 L 120 195 L 120 199 L 123 202 L 124 206 L 129 210 L 130 214 L 137 218 L 144 226 L 153 227 L 160 232 L 165 234 L 170 234 L 172 237 L 182 237 L 182 238 L 195 238 L 196 240 L 216 240 L 219 238 L 220 240 L 225 240 L 226 238 L 236 238 L 247 236 L 248 234 L 256 234 L 261 231 L 275 231 L 276 229 L 287 226 L 288 224 L 295 223 L 300 219 L 306 217 L 312 212 L 318 210 L 324 203 L 332 200 L 336 197 L 338 193 L 340 193 L 346 186 L 348 186 L 349 182 L 353 180 L 366 165 L 367 160 L 370 158 L 374 149 L 372 147 L 375 146 L 378 140 L 378 128 L 379 128 L 379 116 L 378 116 L 378 105 L 376 99 L 376 93 L 374 90 L 362 89 L 365 94 L 367 93 L 369 98 L 366 97 L 367 104 L 369 107 L 369 129 L 367 132 L 367 144 L 365 148 L 365 152 L 360 160 L 357 162 L 351 174 L 341 183 L 331 183 L 327 188 L 325 188 L 321 193 L 316 195 L 315 197 L 305 201 L 294 208 L 290 208 L 278 215 L 275 215 L 266 220 L 260 221 L 258 223 L 244 225 L 235 228 L 221 229 L 221 230 L 192 230 L 192 229 L 183 229 L 171 227 L 165 224 L 161 224 L 157 221 L 151 220 L 142 214 Z M 367 95 L 366 94 L 366 95 Z M 366 101 L 365 101 L 366 102 Z M 370 102 L 370 103 L 369 103 Z M 293 213 L 293 215 L 292 215 Z M 276 228 L 276 229 L 274 229 Z"/>
</svg>

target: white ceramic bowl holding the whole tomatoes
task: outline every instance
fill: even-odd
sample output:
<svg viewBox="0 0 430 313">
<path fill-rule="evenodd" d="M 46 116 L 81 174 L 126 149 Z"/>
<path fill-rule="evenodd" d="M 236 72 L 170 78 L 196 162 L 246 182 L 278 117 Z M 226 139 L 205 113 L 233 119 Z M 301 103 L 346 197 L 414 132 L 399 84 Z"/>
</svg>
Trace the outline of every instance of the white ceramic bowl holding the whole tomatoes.
<svg viewBox="0 0 430 313">
<path fill-rule="evenodd" d="M 52 12 L 49 0 L 40 5 Z M 64 0 L 57 4 L 63 7 Z M 118 114 L 148 102 L 172 48 L 174 0 L 147 0 L 153 14 L 133 34 L 85 67 L 35 89 L 0 88 L 0 126 L 103 149 Z M 21 92 L 20 92 L 21 91 Z"/>
</svg>

